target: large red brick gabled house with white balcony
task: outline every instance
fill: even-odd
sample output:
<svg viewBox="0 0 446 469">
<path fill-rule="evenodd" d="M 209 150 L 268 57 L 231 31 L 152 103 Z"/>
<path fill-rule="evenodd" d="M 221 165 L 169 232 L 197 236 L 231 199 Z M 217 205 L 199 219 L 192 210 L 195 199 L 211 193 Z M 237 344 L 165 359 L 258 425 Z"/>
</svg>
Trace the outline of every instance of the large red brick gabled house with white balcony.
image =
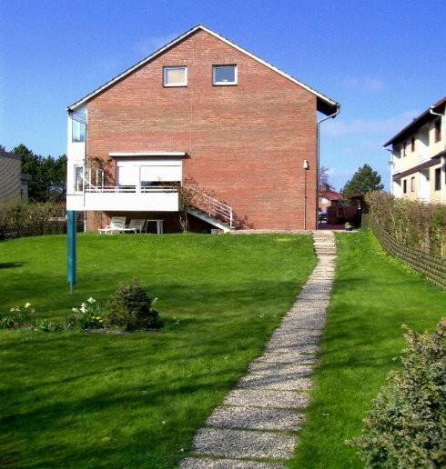
<svg viewBox="0 0 446 469">
<path fill-rule="evenodd" d="M 212 195 L 195 230 L 317 225 L 317 111 L 339 105 L 202 25 L 67 111 L 66 204 L 88 229 L 103 211 L 177 231 L 187 180 Z"/>
</svg>

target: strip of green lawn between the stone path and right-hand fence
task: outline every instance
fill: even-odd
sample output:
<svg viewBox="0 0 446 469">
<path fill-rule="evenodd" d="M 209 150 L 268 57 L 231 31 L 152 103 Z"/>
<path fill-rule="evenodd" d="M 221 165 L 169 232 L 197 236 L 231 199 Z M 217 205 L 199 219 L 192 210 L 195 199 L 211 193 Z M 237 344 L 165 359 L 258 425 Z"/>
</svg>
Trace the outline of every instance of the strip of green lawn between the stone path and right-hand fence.
<svg viewBox="0 0 446 469">
<path fill-rule="evenodd" d="M 363 467 L 344 440 L 357 436 L 405 346 L 401 324 L 433 330 L 446 292 L 383 254 L 369 231 L 337 236 L 337 274 L 314 374 L 307 424 L 292 468 Z"/>
</svg>

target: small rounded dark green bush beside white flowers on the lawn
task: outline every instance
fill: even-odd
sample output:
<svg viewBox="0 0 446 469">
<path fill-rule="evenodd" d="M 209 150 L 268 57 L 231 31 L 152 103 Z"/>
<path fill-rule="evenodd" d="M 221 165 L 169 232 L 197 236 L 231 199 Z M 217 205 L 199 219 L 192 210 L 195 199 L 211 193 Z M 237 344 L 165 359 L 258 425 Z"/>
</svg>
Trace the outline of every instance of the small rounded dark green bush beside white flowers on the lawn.
<svg viewBox="0 0 446 469">
<path fill-rule="evenodd" d="M 125 331 L 152 329 L 159 326 L 158 312 L 152 299 L 134 278 L 131 284 L 118 284 L 108 301 L 106 324 Z"/>
</svg>

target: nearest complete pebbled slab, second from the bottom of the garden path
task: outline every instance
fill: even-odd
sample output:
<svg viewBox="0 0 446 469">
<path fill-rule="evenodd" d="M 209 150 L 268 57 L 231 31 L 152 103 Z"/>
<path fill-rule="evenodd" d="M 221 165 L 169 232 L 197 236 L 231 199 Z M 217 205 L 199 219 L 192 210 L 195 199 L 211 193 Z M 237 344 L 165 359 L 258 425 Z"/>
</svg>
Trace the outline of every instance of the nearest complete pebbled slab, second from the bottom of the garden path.
<svg viewBox="0 0 446 469">
<path fill-rule="evenodd" d="M 297 437 L 276 432 L 204 428 L 194 440 L 196 454 L 229 458 L 289 459 Z"/>
</svg>

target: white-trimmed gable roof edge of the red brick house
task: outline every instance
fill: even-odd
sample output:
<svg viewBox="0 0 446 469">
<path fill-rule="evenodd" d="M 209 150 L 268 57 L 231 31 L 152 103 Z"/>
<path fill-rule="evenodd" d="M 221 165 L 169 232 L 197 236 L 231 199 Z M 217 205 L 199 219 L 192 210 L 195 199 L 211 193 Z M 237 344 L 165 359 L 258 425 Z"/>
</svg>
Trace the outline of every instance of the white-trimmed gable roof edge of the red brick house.
<svg viewBox="0 0 446 469">
<path fill-rule="evenodd" d="M 210 29 L 208 29 L 204 25 L 197 25 L 197 26 L 193 27 L 192 29 L 189 29 L 183 35 L 179 35 L 176 39 L 174 39 L 173 41 L 167 43 L 167 45 L 164 45 L 163 47 L 158 49 L 156 52 L 154 52 L 152 55 L 148 55 L 143 60 L 137 62 L 137 64 L 131 66 L 130 68 L 127 68 L 127 70 L 124 71 L 122 74 L 119 74 L 119 75 L 115 76 L 114 78 L 112 78 L 111 80 L 106 82 L 106 84 L 104 84 L 102 86 L 99 86 L 98 88 L 96 88 L 95 91 L 93 91 L 89 95 L 84 96 L 79 101 L 76 101 L 76 103 L 74 103 L 73 105 L 69 105 L 66 108 L 66 110 L 68 112 L 73 112 L 73 111 L 75 111 L 75 109 L 77 107 L 79 107 L 81 105 L 85 105 L 90 99 L 92 99 L 93 97 L 95 97 L 99 93 L 102 93 L 103 91 L 105 91 L 106 88 L 114 85 L 119 80 L 125 78 L 127 75 L 132 74 L 135 70 L 137 70 L 141 66 L 146 65 L 148 62 L 155 59 L 158 55 L 161 55 L 162 53 L 166 52 L 168 49 L 174 47 L 175 45 L 177 45 L 178 43 L 180 43 L 184 39 L 188 38 L 190 35 L 195 34 L 197 31 L 205 31 L 209 35 L 213 35 L 214 37 L 217 37 L 220 41 L 223 41 L 224 43 L 230 45 L 231 47 L 234 47 L 235 49 L 237 49 L 242 54 L 248 55 L 248 57 L 251 57 L 252 59 L 256 60 L 259 64 L 267 66 L 269 69 L 273 70 L 274 72 L 278 73 L 279 75 L 284 76 L 285 78 L 289 79 L 291 82 L 295 83 L 296 85 L 299 85 L 302 88 L 306 89 L 307 91 L 309 91 L 309 93 L 316 96 L 317 109 L 318 109 L 319 112 L 321 112 L 325 115 L 332 115 L 332 114 L 334 114 L 335 112 L 337 112 L 339 110 L 340 105 L 338 103 L 336 103 L 335 101 L 333 101 L 332 99 L 329 99 L 329 97 L 320 94 L 319 92 L 317 92 L 313 88 L 310 88 L 308 85 L 304 85 L 302 82 L 299 82 L 299 80 L 296 80 L 296 78 L 293 78 L 291 75 L 288 75 L 285 72 L 282 72 L 281 70 L 279 70 L 279 68 L 275 67 L 274 65 L 268 64 L 264 60 L 258 58 L 258 56 L 253 55 L 253 54 L 249 53 L 248 51 L 246 51 L 245 49 L 243 49 L 242 47 L 228 41 L 228 39 L 225 39 L 223 36 L 218 35 L 217 33 L 214 33 L 213 31 L 211 31 Z"/>
</svg>

